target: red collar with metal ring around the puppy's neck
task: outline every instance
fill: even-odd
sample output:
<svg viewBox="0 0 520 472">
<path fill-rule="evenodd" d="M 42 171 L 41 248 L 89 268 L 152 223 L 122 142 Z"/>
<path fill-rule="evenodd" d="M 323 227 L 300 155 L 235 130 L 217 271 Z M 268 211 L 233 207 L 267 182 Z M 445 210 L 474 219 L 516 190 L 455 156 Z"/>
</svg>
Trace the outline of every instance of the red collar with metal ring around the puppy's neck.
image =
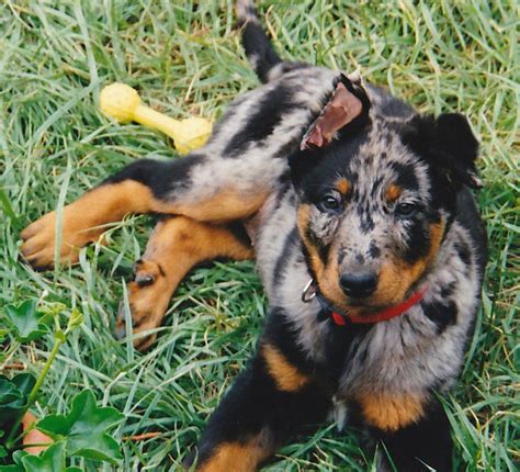
<svg viewBox="0 0 520 472">
<path fill-rule="evenodd" d="M 309 284 L 307 289 L 312 289 L 312 285 Z M 336 325 L 344 326 L 349 322 L 353 324 L 373 324 L 373 323 L 380 323 L 380 322 L 387 322 L 388 319 L 400 316 L 404 313 L 406 313 L 409 308 L 411 308 L 414 305 L 419 303 L 425 296 L 425 293 L 427 290 L 428 290 L 428 285 L 425 284 L 417 292 L 414 292 L 409 299 L 405 300 L 398 305 L 388 306 L 387 308 L 381 312 L 365 314 L 365 315 L 354 315 L 351 313 L 344 313 L 344 314 L 338 313 L 328 304 L 327 301 L 323 299 L 321 294 L 318 293 L 316 288 L 314 288 L 314 294 L 312 297 L 317 296 L 318 301 L 324 307 L 324 311 L 326 313 L 328 312 L 328 315 L 331 316 Z M 304 299 L 302 297 L 302 300 Z"/>
</svg>

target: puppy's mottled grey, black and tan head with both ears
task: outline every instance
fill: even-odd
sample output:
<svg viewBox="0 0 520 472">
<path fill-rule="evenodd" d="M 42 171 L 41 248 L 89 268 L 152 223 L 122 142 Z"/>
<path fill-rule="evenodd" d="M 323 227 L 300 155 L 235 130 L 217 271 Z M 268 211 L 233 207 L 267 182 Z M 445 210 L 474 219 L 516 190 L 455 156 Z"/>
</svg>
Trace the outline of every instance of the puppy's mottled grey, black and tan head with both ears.
<svg viewBox="0 0 520 472">
<path fill-rule="evenodd" d="M 419 115 L 346 76 L 335 87 L 291 169 L 313 277 L 362 314 L 403 302 L 432 268 L 457 189 L 478 184 L 477 142 L 460 114 Z"/>
</svg>

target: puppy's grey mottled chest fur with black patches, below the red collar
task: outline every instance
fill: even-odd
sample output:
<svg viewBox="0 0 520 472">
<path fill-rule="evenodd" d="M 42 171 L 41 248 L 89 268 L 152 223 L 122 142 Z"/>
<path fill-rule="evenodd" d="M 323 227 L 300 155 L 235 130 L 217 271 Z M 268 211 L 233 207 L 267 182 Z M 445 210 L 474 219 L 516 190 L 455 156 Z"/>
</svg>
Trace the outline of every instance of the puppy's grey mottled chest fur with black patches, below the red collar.
<svg viewBox="0 0 520 472">
<path fill-rule="evenodd" d="M 428 281 L 431 288 L 421 303 L 351 340 L 338 372 L 338 397 L 416 394 L 453 385 L 478 304 L 478 282 L 462 269 L 456 261 L 446 263 Z"/>
</svg>

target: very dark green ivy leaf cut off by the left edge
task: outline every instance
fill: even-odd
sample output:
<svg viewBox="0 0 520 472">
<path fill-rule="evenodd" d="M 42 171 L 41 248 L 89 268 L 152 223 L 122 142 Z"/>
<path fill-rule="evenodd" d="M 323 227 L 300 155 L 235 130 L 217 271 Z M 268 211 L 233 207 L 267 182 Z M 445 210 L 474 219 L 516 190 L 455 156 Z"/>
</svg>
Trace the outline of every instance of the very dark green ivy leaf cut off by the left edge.
<svg viewBox="0 0 520 472">
<path fill-rule="evenodd" d="M 35 383 L 36 380 L 30 373 L 19 373 L 12 380 L 0 375 L 0 425 L 22 413 Z"/>
</svg>

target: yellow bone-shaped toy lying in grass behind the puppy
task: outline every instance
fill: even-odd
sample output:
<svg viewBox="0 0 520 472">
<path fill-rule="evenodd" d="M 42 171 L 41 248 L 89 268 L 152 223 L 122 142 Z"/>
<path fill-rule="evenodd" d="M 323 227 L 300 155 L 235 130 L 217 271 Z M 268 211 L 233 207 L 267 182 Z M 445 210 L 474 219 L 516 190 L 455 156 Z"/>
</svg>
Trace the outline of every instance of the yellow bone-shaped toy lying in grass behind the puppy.
<svg viewBox="0 0 520 472">
<path fill-rule="evenodd" d="M 203 146 L 212 133 L 212 124 L 202 117 L 179 121 L 142 105 L 137 91 L 124 83 L 115 82 L 101 90 L 100 108 L 120 123 L 135 121 L 166 133 L 173 138 L 180 154 Z"/>
</svg>

